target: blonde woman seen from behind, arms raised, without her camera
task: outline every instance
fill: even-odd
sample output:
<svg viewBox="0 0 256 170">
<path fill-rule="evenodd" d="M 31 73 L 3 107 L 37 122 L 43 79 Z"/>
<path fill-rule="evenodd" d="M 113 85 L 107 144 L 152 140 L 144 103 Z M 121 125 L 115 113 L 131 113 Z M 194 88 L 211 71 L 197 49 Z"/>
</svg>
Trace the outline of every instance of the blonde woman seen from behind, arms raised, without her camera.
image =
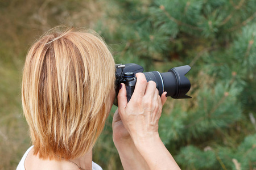
<svg viewBox="0 0 256 170">
<path fill-rule="evenodd" d="M 179 169 L 158 134 L 166 92 L 144 74 L 129 103 L 121 84 L 113 141 L 124 169 Z M 17 169 L 101 169 L 92 148 L 115 96 L 115 63 L 94 32 L 48 32 L 28 51 L 22 105 L 33 146 Z"/>
</svg>

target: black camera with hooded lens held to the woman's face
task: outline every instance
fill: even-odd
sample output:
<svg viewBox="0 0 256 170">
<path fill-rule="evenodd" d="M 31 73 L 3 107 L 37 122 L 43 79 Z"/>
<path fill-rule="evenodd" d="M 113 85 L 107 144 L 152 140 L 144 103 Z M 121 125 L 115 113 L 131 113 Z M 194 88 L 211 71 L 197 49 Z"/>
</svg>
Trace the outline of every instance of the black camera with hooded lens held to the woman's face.
<svg viewBox="0 0 256 170">
<path fill-rule="evenodd" d="M 185 74 L 191 69 L 190 66 L 174 67 L 166 73 L 159 73 L 158 71 L 150 71 L 143 73 L 146 76 L 147 82 L 150 80 L 156 83 L 156 88 L 161 96 L 164 91 L 167 92 L 167 96 L 171 96 L 174 99 L 189 99 L 192 98 L 187 96 L 187 92 L 190 90 L 191 84 Z M 143 67 L 135 63 L 127 63 L 125 65 L 115 65 L 115 94 L 119 91 L 121 83 L 125 84 L 127 101 L 131 99 L 133 95 L 137 78 L 136 73 L 142 73 Z M 117 100 L 114 102 L 117 105 Z"/>
</svg>

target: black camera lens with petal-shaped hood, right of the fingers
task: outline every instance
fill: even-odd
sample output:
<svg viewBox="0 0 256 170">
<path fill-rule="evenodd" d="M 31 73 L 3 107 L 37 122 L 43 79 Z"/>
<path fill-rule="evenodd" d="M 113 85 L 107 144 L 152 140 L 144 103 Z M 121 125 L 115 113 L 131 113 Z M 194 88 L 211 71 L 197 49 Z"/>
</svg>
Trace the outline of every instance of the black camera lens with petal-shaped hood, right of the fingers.
<svg viewBox="0 0 256 170">
<path fill-rule="evenodd" d="M 191 84 L 185 74 L 191 69 L 190 66 L 180 66 L 170 69 L 166 73 L 159 73 L 158 71 L 150 71 L 143 73 L 146 76 L 147 82 L 150 80 L 156 83 L 159 95 L 161 96 L 164 91 L 167 92 L 167 96 L 171 96 L 174 99 L 187 99 L 191 98 L 187 96 Z"/>
</svg>

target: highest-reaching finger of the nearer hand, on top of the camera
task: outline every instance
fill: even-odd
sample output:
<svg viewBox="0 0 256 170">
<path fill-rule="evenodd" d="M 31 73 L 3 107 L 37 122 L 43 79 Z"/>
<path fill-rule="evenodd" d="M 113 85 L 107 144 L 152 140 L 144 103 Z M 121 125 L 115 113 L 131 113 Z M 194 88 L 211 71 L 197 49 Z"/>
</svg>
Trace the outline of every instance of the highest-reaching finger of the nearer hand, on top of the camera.
<svg viewBox="0 0 256 170">
<path fill-rule="evenodd" d="M 143 73 L 137 73 L 137 82 L 135 85 L 134 97 L 142 97 L 145 94 L 146 86 L 147 86 L 147 79 Z"/>
</svg>

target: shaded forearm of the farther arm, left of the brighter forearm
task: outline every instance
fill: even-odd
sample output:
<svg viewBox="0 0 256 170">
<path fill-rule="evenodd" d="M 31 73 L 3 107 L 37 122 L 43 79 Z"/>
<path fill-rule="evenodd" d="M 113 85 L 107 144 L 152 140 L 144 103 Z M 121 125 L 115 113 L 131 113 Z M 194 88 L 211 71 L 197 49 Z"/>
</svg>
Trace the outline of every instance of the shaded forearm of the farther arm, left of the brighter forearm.
<svg viewBox="0 0 256 170">
<path fill-rule="evenodd" d="M 150 169 L 131 139 L 122 142 L 114 140 L 114 144 L 117 147 L 123 169 Z"/>
</svg>

